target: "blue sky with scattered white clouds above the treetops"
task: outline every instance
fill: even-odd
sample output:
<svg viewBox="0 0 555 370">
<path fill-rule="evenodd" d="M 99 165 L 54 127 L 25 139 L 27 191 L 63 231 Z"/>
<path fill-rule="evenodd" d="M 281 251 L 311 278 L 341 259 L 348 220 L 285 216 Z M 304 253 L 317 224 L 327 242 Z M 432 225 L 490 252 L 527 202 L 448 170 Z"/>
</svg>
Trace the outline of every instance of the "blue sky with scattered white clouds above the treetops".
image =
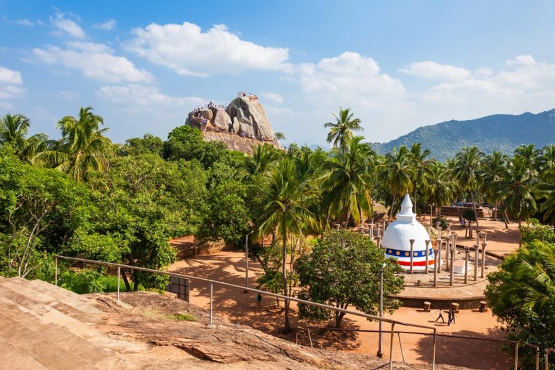
<svg viewBox="0 0 555 370">
<path fill-rule="evenodd" d="M 287 142 L 352 108 L 370 142 L 555 108 L 554 1 L 3 1 L 0 115 L 33 133 L 93 106 L 115 142 L 162 138 L 253 92 Z"/>
</svg>

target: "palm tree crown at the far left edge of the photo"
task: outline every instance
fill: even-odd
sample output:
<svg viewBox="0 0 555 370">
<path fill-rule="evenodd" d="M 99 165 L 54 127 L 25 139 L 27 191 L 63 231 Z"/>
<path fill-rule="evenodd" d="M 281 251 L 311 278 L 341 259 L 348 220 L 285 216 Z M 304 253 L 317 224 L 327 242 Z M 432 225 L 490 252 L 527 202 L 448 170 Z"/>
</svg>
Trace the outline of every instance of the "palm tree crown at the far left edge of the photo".
<svg viewBox="0 0 555 370">
<path fill-rule="evenodd" d="M 20 159 L 30 162 L 46 135 L 39 133 L 26 138 L 31 122 L 24 115 L 5 115 L 0 119 L 0 144 L 12 146 Z"/>
</svg>

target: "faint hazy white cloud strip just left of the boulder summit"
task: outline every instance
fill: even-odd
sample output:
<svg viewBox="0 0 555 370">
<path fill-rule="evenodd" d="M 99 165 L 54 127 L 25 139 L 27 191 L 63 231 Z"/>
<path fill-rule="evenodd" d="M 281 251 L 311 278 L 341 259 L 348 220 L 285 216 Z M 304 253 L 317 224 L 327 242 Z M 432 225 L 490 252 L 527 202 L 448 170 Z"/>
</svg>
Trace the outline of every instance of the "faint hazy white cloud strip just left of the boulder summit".
<svg viewBox="0 0 555 370">
<path fill-rule="evenodd" d="M 98 95 L 123 106 L 131 106 L 136 110 L 150 110 L 152 108 L 185 107 L 192 110 L 195 106 L 205 103 L 204 99 L 196 96 L 176 97 L 162 94 L 155 86 L 146 85 L 117 85 L 103 86 Z"/>
</svg>

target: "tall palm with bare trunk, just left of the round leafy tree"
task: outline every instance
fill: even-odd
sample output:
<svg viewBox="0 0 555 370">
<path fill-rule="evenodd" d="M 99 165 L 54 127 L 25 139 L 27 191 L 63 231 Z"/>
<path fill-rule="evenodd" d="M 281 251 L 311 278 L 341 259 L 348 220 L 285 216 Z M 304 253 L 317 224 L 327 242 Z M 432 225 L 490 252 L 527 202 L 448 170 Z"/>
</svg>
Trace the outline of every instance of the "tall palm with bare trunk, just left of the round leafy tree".
<svg viewBox="0 0 555 370">
<path fill-rule="evenodd" d="M 293 236 L 303 234 L 304 228 L 315 224 L 315 216 L 309 208 L 316 194 L 312 186 L 313 174 L 301 174 L 298 160 L 284 158 L 266 176 L 270 182 L 268 203 L 257 210 L 257 235 L 278 233 L 282 241 L 282 278 L 284 295 L 287 289 L 287 242 Z M 316 228 L 316 226 L 314 226 Z M 290 331 L 289 301 L 285 302 L 285 330 Z"/>
</svg>

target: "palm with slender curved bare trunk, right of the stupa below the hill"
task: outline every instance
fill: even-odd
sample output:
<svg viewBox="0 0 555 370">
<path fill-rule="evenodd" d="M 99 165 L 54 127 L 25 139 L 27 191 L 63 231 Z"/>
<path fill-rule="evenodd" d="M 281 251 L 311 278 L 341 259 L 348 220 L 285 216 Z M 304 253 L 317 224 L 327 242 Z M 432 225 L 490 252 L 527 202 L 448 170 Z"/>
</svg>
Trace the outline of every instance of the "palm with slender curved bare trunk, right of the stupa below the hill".
<svg viewBox="0 0 555 370">
<path fill-rule="evenodd" d="M 476 146 L 463 148 L 462 151 L 456 153 L 453 164 L 453 175 L 459 182 L 461 189 L 466 189 L 470 192 L 470 199 L 472 207 L 474 208 L 474 215 L 476 217 L 476 228 L 479 229 L 478 212 L 476 210 L 476 203 L 474 201 L 474 194 L 480 188 L 482 178 L 480 174 L 482 153 Z"/>
</svg>

